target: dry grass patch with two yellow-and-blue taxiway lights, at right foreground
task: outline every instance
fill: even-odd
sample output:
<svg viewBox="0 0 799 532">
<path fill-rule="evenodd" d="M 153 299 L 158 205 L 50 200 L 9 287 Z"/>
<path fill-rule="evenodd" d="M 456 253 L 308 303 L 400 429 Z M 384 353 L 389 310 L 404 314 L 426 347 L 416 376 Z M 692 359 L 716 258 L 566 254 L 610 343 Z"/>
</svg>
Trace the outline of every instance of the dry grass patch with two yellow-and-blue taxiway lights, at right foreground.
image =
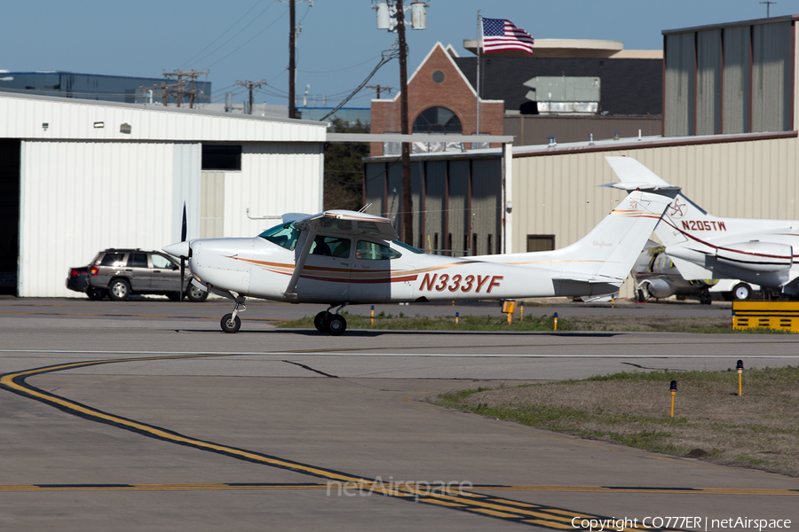
<svg viewBox="0 0 799 532">
<path fill-rule="evenodd" d="M 671 380 L 677 381 L 674 418 Z M 621 372 L 476 388 L 431 402 L 582 438 L 799 476 L 799 367 L 743 373 Z"/>
</svg>

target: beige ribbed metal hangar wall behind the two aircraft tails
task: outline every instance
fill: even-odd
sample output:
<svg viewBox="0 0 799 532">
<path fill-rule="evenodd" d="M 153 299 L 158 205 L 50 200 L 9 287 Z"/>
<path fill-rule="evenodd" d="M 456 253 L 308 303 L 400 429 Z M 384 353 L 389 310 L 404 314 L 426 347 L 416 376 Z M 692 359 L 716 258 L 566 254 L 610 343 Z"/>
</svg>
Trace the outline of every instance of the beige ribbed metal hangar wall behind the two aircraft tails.
<svg viewBox="0 0 799 532">
<path fill-rule="evenodd" d="M 526 236 L 554 234 L 568 246 L 588 234 L 624 192 L 605 156 L 633 157 L 717 216 L 799 220 L 799 139 L 676 145 L 513 159 L 512 253 Z M 630 283 L 621 295 L 632 296 Z"/>
</svg>

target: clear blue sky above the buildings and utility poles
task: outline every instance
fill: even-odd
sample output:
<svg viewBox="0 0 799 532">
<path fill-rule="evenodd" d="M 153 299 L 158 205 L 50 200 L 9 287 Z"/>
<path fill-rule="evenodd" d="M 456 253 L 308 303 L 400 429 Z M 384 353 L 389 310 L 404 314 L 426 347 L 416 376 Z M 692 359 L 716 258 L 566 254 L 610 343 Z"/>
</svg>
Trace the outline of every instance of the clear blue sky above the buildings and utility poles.
<svg viewBox="0 0 799 532">
<path fill-rule="evenodd" d="M 409 4 L 411 0 L 405 0 Z M 607 39 L 625 49 L 661 50 L 664 29 L 764 18 L 760 0 L 429 0 L 427 29 L 407 32 L 412 73 L 437 41 L 462 56 L 475 38 L 477 13 L 509 19 L 535 38 Z M 771 4 L 771 17 L 799 12 L 795 0 Z M 3 7 L 0 69 L 64 70 L 84 74 L 161 77 L 170 70 L 210 70 L 214 101 L 237 81 L 268 85 L 256 103 L 286 105 L 289 75 L 289 5 L 281 0 L 219 3 L 27 0 Z M 309 106 L 336 105 L 371 72 L 396 35 L 376 29 L 370 0 L 297 3 L 297 92 L 310 84 Z M 399 86 L 399 62 L 383 66 L 369 84 Z M 362 90 L 347 106 L 368 107 Z M 300 99 L 297 102 L 302 104 Z"/>
</svg>

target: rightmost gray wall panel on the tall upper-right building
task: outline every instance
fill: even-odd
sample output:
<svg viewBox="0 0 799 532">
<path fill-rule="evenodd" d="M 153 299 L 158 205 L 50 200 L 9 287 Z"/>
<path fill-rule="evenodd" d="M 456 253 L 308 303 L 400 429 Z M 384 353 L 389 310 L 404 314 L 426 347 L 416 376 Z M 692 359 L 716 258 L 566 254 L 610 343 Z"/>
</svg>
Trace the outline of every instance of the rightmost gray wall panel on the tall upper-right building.
<svg viewBox="0 0 799 532">
<path fill-rule="evenodd" d="M 752 31 L 752 131 L 790 128 L 789 21 L 761 24 Z"/>
</svg>

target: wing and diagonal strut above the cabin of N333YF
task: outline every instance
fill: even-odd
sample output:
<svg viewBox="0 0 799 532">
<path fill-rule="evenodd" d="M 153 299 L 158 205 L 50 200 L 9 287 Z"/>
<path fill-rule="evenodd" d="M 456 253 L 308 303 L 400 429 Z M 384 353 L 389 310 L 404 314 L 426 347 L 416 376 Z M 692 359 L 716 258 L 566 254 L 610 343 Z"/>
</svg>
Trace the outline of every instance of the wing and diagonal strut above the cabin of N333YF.
<svg viewBox="0 0 799 532">
<path fill-rule="evenodd" d="M 318 231 L 325 231 L 329 235 L 342 234 L 347 236 L 366 235 L 377 237 L 384 240 L 398 239 L 397 231 L 394 231 L 392 221 L 383 216 L 368 215 L 348 210 L 328 210 L 318 215 L 301 218 L 294 223 L 300 231 L 307 231 L 305 244 L 297 254 L 297 262 L 294 272 L 289 279 L 289 286 L 286 286 L 283 295 L 289 299 L 296 299 L 297 281 L 305 268 L 305 261 L 311 252 L 313 239 L 316 238 Z"/>
</svg>

